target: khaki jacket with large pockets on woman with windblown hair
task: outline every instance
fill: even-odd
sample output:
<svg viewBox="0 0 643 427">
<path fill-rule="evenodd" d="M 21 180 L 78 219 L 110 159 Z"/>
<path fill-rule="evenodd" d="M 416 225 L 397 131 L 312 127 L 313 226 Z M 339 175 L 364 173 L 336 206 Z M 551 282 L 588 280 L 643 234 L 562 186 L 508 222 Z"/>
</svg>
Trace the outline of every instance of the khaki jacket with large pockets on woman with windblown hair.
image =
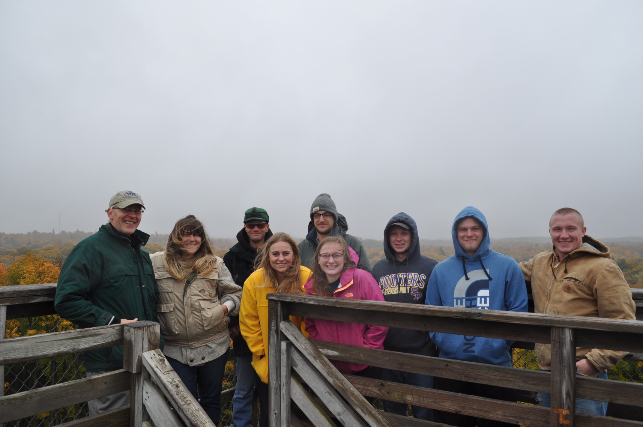
<svg viewBox="0 0 643 427">
<path fill-rule="evenodd" d="M 237 312 L 240 306 L 242 288 L 230 277 L 230 284 L 223 289 L 219 280 L 221 269 L 225 268 L 219 257 L 212 273 L 207 277 L 192 280 L 183 296 L 185 280 L 170 276 L 163 252 L 150 255 L 154 277 L 159 288 L 158 320 L 165 343 L 176 347 L 201 347 L 228 335 L 230 316 L 223 314 L 221 296 L 230 295 Z M 234 313 L 233 313 L 234 314 Z"/>
</svg>

